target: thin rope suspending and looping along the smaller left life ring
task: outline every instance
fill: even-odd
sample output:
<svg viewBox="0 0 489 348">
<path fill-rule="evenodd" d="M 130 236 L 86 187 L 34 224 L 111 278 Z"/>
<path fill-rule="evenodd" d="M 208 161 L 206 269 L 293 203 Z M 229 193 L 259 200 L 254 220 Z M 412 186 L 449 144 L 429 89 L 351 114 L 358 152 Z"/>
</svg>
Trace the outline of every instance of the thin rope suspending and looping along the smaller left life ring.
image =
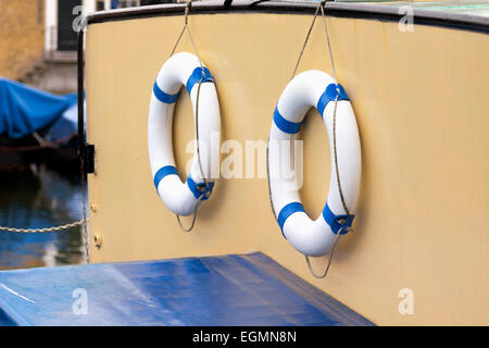
<svg viewBox="0 0 489 348">
<path fill-rule="evenodd" d="M 175 53 L 175 50 L 177 49 L 178 44 L 180 42 L 181 37 L 184 36 L 184 33 L 187 32 L 188 37 L 190 38 L 190 42 L 192 45 L 193 52 L 196 53 L 197 58 L 199 59 L 199 64 L 200 64 L 200 67 L 202 69 L 202 77 L 200 78 L 199 85 L 197 86 L 197 100 L 196 100 L 196 150 L 197 150 L 197 161 L 199 163 L 200 174 L 202 176 L 202 181 L 204 183 L 204 187 L 205 188 L 203 189 L 202 195 L 197 200 L 196 208 L 193 209 L 192 222 L 191 222 L 191 224 L 190 224 L 190 226 L 188 228 L 184 227 L 184 225 L 181 224 L 180 215 L 175 214 L 176 217 L 177 217 L 178 225 L 180 226 L 181 231 L 187 232 L 187 233 L 193 229 L 193 226 L 196 225 L 196 220 L 197 220 L 197 210 L 199 209 L 199 206 L 200 206 L 200 202 L 202 201 L 203 196 L 208 194 L 208 189 L 206 189 L 208 188 L 208 181 L 205 179 L 204 174 L 203 174 L 203 170 L 202 170 L 202 162 L 200 160 L 200 145 L 199 145 L 199 142 L 200 142 L 200 140 L 199 140 L 199 99 L 200 99 L 200 87 L 202 86 L 202 82 L 203 82 L 203 79 L 205 77 L 205 75 L 204 75 L 205 72 L 204 72 L 204 65 L 203 65 L 202 60 L 200 59 L 200 55 L 199 55 L 199 51 L 197 50 L 196 42 L 193 41 L 193 37 L 192 37 L 191 33 L 190 33 L 190 28 L 188 27 L 188 14 L 189 14 L 189 11 L 190 11 L 190 8 L 191 8 L 191 2 L 192 2 L 192 0 L 188 0 L 187 4 L 185 5 L 184 27 L 181 28 L 180 34 L 178 35 L 178 38 L 177 38 L 177 40 L 175 42 L 175 46 L 173 47 L 173 50 L 170 53 L 170 57 L 172 57 L 173 53 Z"/>
</svg>

